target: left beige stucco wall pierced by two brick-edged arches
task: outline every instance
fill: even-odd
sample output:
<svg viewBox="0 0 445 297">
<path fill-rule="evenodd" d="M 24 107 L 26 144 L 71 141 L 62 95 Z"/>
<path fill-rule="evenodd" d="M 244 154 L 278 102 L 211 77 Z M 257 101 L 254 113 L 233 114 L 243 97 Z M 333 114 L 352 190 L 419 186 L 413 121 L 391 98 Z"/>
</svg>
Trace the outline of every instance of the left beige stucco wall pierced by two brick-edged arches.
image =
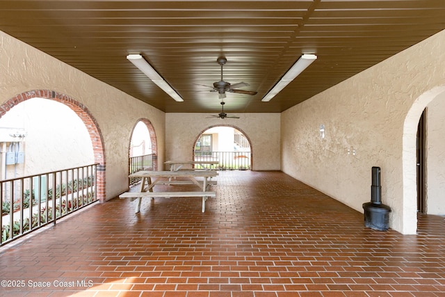
<svg viewBox="0 0 445 297">
<path fill-rule="evenodd" d="M 106 199 L 127 189 L 129 143 L 138 119 L 152 122 L 163 162 L 165 113 L 0 32 L 0 103 L 28 90 L 68 95 L 95 117 L 106 154 Z"/>
</svg>

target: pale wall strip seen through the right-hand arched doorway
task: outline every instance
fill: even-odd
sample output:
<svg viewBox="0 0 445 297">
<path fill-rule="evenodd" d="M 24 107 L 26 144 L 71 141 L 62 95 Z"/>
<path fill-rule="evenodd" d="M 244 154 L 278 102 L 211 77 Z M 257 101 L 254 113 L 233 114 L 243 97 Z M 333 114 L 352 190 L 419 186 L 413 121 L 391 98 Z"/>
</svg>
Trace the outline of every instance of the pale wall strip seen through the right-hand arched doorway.
<svg viewBox="0 0 445 297">
<path fill-rule="evenodd" d="M 445 215 L 445 94 L 426 113 L 426 206 L 428 214 Z"/>
</svg>

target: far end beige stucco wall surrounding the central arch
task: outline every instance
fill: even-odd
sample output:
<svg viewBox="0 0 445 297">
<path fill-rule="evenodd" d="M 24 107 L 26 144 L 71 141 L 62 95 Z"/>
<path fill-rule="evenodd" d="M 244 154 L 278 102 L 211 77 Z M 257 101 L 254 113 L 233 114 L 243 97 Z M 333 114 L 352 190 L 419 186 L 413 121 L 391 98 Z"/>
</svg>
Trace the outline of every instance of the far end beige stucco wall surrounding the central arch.
<svg viewBox="0 0 445 297">
<path fill-rule="evenodd" d="M 252 144 L 252 170 L 280 170 L 280 113 L 236 113 L 239 119 L 206 118 L 209 113 L 165 115 L 165 158 L 191 160 L 202 131 L 229 125 L 245 133 Z M 212 113 L 213 115 L 213 113 Z"/>
</svg>

